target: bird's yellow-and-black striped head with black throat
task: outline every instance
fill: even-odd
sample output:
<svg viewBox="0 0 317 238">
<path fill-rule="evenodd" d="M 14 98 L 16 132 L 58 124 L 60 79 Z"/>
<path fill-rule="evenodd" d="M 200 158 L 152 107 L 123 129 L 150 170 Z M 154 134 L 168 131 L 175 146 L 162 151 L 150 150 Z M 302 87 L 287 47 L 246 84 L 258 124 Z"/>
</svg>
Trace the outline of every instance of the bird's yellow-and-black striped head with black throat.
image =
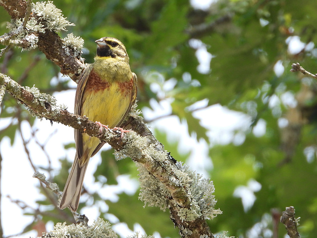
<svg viewBox="0 0 317 238">
<path fill-rule="evenodd" d="M 106 58 L 117 58 L 129 63 L 129 56 L 125 46 L 116 38 L 103 37 L 96 41 L 97 56 Z"/>
</svg>

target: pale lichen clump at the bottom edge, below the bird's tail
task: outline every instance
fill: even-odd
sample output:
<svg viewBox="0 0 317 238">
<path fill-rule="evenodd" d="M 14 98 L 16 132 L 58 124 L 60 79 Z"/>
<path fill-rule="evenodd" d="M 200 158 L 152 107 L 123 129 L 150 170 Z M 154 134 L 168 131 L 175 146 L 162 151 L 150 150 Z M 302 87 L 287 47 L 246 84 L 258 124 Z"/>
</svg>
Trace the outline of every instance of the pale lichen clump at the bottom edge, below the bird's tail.
<svg viewBox="0 0 317 238">
<path fill-rule="evenodd" d="M 115 232 L 111 229 L 111 225 L 103 219 L 98 218 L 97 221 L 86 227 L 82 224 L 71 224 L 69 226 L 64 222 L 57 223 L 53 231 L 43 235 L 42 238 L 117 238 Z"/>
</svg>

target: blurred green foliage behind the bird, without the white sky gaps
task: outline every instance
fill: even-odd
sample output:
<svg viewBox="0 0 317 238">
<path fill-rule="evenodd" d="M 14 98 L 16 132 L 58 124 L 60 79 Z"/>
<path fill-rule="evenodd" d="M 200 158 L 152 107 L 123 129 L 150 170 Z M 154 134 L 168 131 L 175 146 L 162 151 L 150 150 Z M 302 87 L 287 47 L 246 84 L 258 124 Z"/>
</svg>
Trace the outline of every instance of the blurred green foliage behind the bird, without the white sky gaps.
<svg viewBox="0 0 317 238">
<path fill-rule="evenodd" d="M 250 117 L 250 129 L 235 132 L 245 135 L 243 143 L 210 146 L 213 169 L 209 172 L 216 188 L 216 206 L 223 211 L 210 221 L 212 232 L 229 231 L 228 235 L 247 237 L 247 231 L 271 209 L 282 211 L 292 205 L 301 216 L 302 237 L 315 237 L 316 82 L 289 69 L 291 63 L 300 62 L 316 72 L 317 1 L 217 0 L 205 10 L 194 8 L 186 0 L 54 0 L 54 4 L 76 24 L 68 33 L 85 40 L 86 62 L 93 61 L 96 39 L 116 37 L 125 44 L 131 68 L 139 79 L 140 109 L 151 108 L 150 100 L 172 101 L 171 114 L 187 122 L 190 135 L 194 133 L 197 140 L 208 143 L 208 129 L 189 109 L 193 103 L 208 99 L 208 106 L 220 103 Z M 1 34 L 7 31 L 7 21 L 8 14 L 0 8 Z M 64 37 L 66 33 L 60 35 Z M 288 43 L 295 36 L 304 47 L 291 52 Z M 201 49 L 212 55 L 210 70 L 199 70 L 196 53 Z M 208 62 L 207 57 L 205 60 Z M 278 76 L 273 70 L 277 62 L 284 67 Z M 35 84 L 42 92 L 53 94 L 69 89 L 67 81 L 60 78 L 51 83 L 59 69 L 38 50 L 11 49 L 0 59 L 0 70 L 22 85 Z M 164 84 L 170 79 L 175 85 L 165 90 Z M 159 90 L 154 91 L 153 85 Z M 295 107 L 283 99 L 287 94 L 296 98 Z M 11 123 L 0 131 L 0 140 L 7 136 L 11 143 L 18 130 L 17 121 L 28 120 L 31 125 L 34 122 L 10 95 L 5 95 L 0 117 L 11 118 Z M 281 127 L 283 119 L 287 124 Z M 265 122 L 265 133 L 257 136 L 253 128 L 260 121 Z M 177 143 L 166 140 L 162 132 L 157 131 L 157 135 L 176 159 L 186 161 L 189 154 L 177 151 Z M 65 145 L 65 149 L 71 146 Z M 102 157 L 103 163 L 95 172 L 97 182 L 116 184 L 120 174 L 137 177 L 132 161 L 115 162 L 112 151 L 102 152 Z M 61 162 L 63 169 L 55 177 L 60 186 L 66 181 L 69 166 L 65 159 Z M 234 197 L 233 192 L 238 186 L 247 186 L 250 180 L 259 182 L 262 188 L 254 193 L 252 208 L 244 211 L 241 198 Z M 94 201 L 102 201 L 97 193 L 91 195 Z M 126 222 L 130 229 L 137 222 L 148 234 L 159 231 L 164 237 L 178 236 L 166 212 L 143 209 L 137 194 L 123 193 L 119 197 L 119 202 L 107 202 L 109 213 Z M 57 217 L 56 209 L 48 209 Z M 105 211 L 100 212 L 106 215 Z M 43 220 L 63 221 L 56 217 L 44 216 Z M 268 228 L 272 230 L 272 225 Z M 279 228 L 282 237 L 285 229 L 282 225 Z"/>
</svg>

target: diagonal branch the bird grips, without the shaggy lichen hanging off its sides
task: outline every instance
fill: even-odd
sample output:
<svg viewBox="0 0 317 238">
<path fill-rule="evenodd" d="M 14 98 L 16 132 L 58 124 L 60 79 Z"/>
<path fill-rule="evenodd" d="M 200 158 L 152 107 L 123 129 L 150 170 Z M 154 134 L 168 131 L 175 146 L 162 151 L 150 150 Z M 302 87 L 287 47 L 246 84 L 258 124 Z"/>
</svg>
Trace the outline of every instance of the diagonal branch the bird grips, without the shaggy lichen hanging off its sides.
<svg viewBox="0 0 317 238">
<path fill-rule="evenodd" d="M 198 214 L 194 218 L 192 214 L 197 214 L 197 212 L 191 213 L 195 198 L 189 191 L 190 188 L 184 186 L 182 182 L 185 179 L 190 179 L 183 175 L 185 172 L 179 169 L 179 165 L 175 164 L 173 159 L 167 157 L 162 144 L 155 139 L 141 117 L 130 116 L 123 125 L 126 129 L 132 128 L 139 135 L 131 132 L 121 139 L 119 130 L 112 131 L 111 129 L 106 130 L 104 127 L 100 128 L 88 118 L 74 115 L 56 105 L 55 99 L 50 95 L 40 94 L 34 88 L 21 87 L 3 74 L 0 74 L 0 85 L 3 85 L 9 94 L 25 104 L 31 114 L 62 123 L 82 133 L 87 133 L 89 136 L 97 137 L 142 164 L 147 170 L 147 174 L 151 174 L 155 181 L 160 181 L 166 192 L 170 194 L 170 197 L 166 197 L 168 202 L 166 206 L 169 207 L 170 217 L 175 226 L 180 229 L 182 237 L 199 238 L 204 236 L 213 238 L 206 223 L 204 211 L 198 212 L 200 215 Z M 100 133 L 101 129 L 102 133 Z M 181 176 L 185 177 L 181 178 Z M 151 189 L 156 190 L 156 188 Z M 204 192 L 202 191 L 202 193 Z M 210 196 L 210 194 L 207 194 L 207 197 Z M 209 204 L 212 207 L 213 205 Z M 212 209 L 208 210 L 211 213 L 210 217 L 220 213 L 219 210 L 212 212 Z M 185 214 L 184 211 L 186 211 Z"/>
</svg>

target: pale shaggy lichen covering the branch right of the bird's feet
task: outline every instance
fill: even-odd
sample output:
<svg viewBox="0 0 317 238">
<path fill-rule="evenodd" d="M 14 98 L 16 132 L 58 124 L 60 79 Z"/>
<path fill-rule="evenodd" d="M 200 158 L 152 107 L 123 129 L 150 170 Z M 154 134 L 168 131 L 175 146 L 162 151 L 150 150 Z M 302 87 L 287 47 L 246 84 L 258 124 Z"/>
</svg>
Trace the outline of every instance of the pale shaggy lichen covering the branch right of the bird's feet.
<svg viewBox="0 0 317 238">
<path fill-rule="evenodd" d="M 172 187 L 178 187 L 179 192 L 185 192 L 183 196 L 190 201 L 190 207 L 180 208 L 178 215 L 183 221 L 193 221 L 198 217 L 212 219 L 222 212 L 214 209 L 216 200 L 212 181 L 204 179 L 200 174 L 189 169 L 187 165 L 177 162 L 176 167 L 167 159 L 166 151 L 161 151 L 153 144 L 149 144 L 147 138 L 140 137 L 135 132 L 125 134 L 126 145 L 124 149 L 116 152 L 116 158 L 124 158 L 125 154 L 137 159 L 140 177 L 140 196 L 145 205 L 157 206 L 165 210 L 170 206 L 171 193 L 166 185 L 150 174 L 145 166 L 151 166 L 156 174 L 165 171 L 163 176 L 169 175 L 169 183 Z M 152 161 L 147 161 L 148 159 Z M 154 160 L 154 161 L 153 161 Z M 149 168 L 148 168 L 149 169 Z M 178 192 L 178 191 L 173 191 Z M 182 196 L 182 194 L 179 194 Z"/>
</svg>

